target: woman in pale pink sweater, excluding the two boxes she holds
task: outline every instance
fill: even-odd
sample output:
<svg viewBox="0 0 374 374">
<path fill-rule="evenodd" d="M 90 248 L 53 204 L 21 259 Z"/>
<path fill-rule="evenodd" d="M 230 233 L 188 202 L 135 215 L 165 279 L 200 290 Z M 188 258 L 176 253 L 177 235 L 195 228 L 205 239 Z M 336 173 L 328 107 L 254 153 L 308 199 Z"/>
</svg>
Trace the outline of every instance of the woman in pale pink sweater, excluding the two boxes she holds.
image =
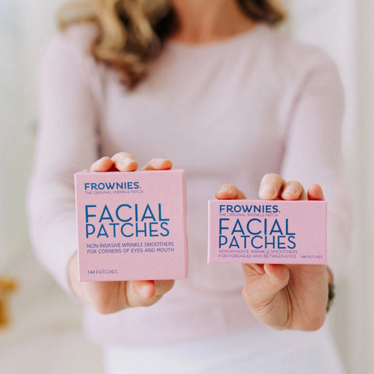
<svg viewBox="0 0 374 374">
<path fill-rule="evenodd" d="M 335 64 L 274 30 L 283 14 L 271 1 L 97 0 L 64 15 L 40 74 L 30 233 L 46 269 L 90 305 L 84 325 L 106 347 L 108 373 L 340 373 L 326 329 L 291 331 L 323 325 L 331 271 L 206 264 L 205 218 L 221 185 L 219 199 L 244 198 L 238 187 L 256 198 L 259 185 L 261 199 L 323 199 L 318 181 L 337 273 Z M 79 283 L 73 173 L 168 169 L 169 159 L 188 176 L 188 279 Z"/>
</svg>

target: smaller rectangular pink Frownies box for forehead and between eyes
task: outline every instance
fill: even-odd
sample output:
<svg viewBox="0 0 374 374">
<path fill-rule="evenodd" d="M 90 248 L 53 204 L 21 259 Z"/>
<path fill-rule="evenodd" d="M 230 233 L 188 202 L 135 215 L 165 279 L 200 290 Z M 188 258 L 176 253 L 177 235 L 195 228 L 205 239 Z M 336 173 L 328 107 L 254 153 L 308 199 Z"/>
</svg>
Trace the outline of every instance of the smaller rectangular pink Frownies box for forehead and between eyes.
<svg viewBox="0 0 374 374">
<path fill-rule="evenodd" d="M 208 210 L 208 262 L 327 262 L 326 202 L 209 200 Z"/>
</svg>

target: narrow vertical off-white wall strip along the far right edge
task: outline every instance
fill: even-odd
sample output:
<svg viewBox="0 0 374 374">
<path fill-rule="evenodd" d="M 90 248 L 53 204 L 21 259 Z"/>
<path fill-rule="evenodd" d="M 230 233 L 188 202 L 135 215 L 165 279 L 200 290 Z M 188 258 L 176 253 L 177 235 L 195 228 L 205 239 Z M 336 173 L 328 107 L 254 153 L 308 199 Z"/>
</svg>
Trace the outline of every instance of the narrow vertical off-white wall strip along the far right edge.
<svg viewBox="0 0 374 374">
<path fill-rule="evenodd" d="M 361 253 L 356 274 L 361 283 L 353 292 L 359 294 L 358 308 L 362 310 L 359 319 L 359 340 L 362 348 L 364 370 L 374 372 L 374 1 L 361 0 L 357 3 L 357 193 L 359 194 L 359 215 L 357 219 L 357 251 Z M 364 371 L 362 371 L 364 373 Z"/>
</svg>

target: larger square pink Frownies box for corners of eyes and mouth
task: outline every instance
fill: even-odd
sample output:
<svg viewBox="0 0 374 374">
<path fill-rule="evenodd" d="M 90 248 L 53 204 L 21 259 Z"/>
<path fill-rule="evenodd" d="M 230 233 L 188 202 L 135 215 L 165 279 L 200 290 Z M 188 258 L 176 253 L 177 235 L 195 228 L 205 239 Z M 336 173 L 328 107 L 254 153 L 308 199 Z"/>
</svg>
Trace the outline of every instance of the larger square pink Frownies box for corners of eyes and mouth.
<svg viewBox="0 0 374 374">
<path fill-rule="evenodd" d="M 187 277 L 184 170 L 77 172 L 79 281 Z"/>
</svg>

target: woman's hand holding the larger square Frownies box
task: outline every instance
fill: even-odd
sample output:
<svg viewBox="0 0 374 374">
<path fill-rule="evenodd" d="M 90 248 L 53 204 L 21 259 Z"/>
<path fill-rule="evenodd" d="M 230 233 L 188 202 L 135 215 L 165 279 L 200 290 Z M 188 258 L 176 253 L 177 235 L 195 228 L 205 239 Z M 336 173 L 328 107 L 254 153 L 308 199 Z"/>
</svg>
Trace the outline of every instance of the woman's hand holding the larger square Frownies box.
<svg viewBox="0 0 374 374">
<path fill-rule="evenodd" d="M 138 162 L 132 154 L 120 152 L 111 158 L 95 161 L 91 172 L 120 171 L 132 172 Z M 167 159 L 152 159 L 142 170 L 168 170 L 172 162 Z M 97 312 L 109 314 L 128 307 L 149 306 L 156 303 L 163 294 L 172 289 L 174 281 L 109 281 L 79 282 L 78 255 L 71 258 L 68 267 L 69 283 L 73 293 Z"/>
</svg>

